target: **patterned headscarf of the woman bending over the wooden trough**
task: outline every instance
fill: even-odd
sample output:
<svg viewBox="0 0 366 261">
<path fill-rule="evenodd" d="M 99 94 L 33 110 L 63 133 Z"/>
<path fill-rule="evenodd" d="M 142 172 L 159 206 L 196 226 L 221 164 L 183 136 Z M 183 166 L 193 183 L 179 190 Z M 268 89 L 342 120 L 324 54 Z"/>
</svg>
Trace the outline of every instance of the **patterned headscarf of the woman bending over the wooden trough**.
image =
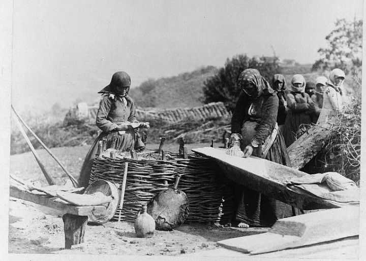
<svg viewBox="0 0 366 261">
<path fill-rule="evenodd" d="M 256 93 L 251 95 L 248 93 L 249 85 L 248 83 L 253 84 L 256 87 Z M 252 98 L 259 97 L 262 93 L 270 93 L 273 94 L 275 91 L 270 88 L 269 83 L 261 76 L 259 70 L 257 69 L 245 69 L 240 73 L 238 79 L 239 87 L 245 92 L 248 96 Z"/>
</svg>

